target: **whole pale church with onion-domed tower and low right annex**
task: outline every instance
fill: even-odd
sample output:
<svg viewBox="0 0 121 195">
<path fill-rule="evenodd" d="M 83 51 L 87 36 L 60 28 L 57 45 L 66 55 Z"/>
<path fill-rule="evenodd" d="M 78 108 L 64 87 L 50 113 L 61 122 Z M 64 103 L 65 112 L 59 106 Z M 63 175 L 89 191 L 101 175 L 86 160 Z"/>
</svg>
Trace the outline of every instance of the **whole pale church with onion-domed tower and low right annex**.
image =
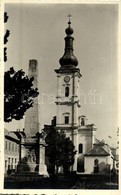
<svg viewBox="0 0 121 195">
<path fill-rule="evenodd" d="M 57 74 L 55 128 L 64 131 L 75 146 L 77 154 L 73 171 L 88 174 L 103 172 L 111 168 L 113 158 L 109 148 L 107 150 L 106 146 L 95 144 L 94 124 L 87 124 L 86 117 L 79 116 L 79 89 L 82 75 L 78 68 L 78 60 L 73 54 L 74 31 L 70 19 L 65 32 L 65 52 L 59 60 L 60 68 L 55 70 Z"/>
</svg>

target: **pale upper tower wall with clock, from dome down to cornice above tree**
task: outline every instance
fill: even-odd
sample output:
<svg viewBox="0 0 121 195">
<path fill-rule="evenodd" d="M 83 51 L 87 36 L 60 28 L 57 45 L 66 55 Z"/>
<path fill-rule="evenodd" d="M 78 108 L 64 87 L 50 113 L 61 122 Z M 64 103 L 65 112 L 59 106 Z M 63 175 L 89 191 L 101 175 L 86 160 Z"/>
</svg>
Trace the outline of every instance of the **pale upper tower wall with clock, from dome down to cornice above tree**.
<svg viewBox="0 0 121 195">
<path fill-rule="evenodd" d="M 70 81 L 68 83 L 64 82 L 65 76 L 70 77 Z M 69 96 L 65 97 L 65 87 L 69 87 Z M 79 78 L 77 73 L 73 75 L 71 74 L 58 74 L 57 75 L 57 126 L 65 126 L 64 116 L 69 116 L 69 124 L 66 126 L 72 126 L 72 113 L 74 115 L 73 123 L 78 125 L 78 105 L 79 101 L 78 97 L 79 93 Z M 74 106 L 72 108 L 72 98 L 75 101 Z"/>
</svg>

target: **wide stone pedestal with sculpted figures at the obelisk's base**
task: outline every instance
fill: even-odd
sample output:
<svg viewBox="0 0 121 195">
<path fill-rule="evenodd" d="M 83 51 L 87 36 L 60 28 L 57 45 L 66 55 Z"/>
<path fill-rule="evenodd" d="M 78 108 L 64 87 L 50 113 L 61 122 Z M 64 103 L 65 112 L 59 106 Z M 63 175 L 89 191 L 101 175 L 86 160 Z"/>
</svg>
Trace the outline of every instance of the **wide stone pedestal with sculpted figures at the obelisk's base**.
<svg viewBox="0 0 121 195">
<path fill-rule="evenodd" d="M 45 141 L 38 137 L 28 137 L 22 139 L 20 147 L 18 172 L 48 176 L 45 164 Z"/>
</svg>

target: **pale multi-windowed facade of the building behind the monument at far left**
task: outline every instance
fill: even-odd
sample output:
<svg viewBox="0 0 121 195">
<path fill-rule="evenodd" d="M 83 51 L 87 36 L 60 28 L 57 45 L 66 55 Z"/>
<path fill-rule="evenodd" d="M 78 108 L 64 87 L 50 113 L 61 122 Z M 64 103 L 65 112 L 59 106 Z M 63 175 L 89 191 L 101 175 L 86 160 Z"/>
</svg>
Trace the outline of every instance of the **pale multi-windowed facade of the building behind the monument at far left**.
<svg viewBox="0 0 121 195">
<path fill-rule="evenodd" d="M 4 142 L 4 152 L 5 152 L 5 173 L 8 170 L 17 169 L 17 164 L 19 161 L 19 145 L 12 140 L 5 138 Z"/>
</svg>

